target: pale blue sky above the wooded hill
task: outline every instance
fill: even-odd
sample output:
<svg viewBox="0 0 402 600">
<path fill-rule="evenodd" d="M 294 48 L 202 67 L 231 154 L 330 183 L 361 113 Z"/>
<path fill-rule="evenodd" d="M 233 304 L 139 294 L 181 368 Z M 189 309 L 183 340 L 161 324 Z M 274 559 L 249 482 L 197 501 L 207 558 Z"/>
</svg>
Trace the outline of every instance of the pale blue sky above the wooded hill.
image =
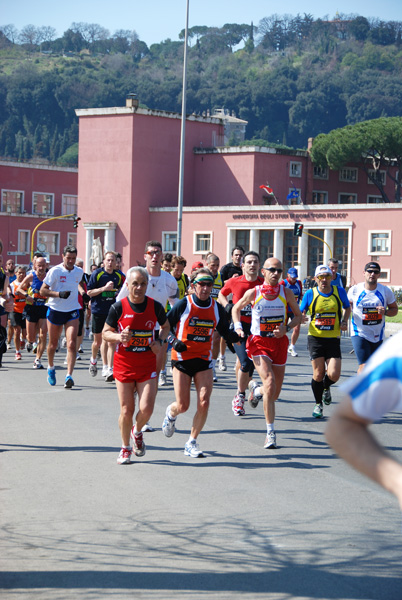
<svg viewBox="0 0 402 600">
<path fill-rule="evenodd" d="M 402 21 L 401 0 L 189 0 L 189 27 L 222 27 L 225 23 L 254 23 L 273 14 L 311 14 L 314 18 L 338 13 Z M 186 22 L 187 0 L 0 0 L 0 26 L 51 26 L 62 36 L 71 23 L 97 23 L 113 33 L 118 29 L 135 30 L 148 46 L 170 38 L 178 40 Z"/>
</svg>

